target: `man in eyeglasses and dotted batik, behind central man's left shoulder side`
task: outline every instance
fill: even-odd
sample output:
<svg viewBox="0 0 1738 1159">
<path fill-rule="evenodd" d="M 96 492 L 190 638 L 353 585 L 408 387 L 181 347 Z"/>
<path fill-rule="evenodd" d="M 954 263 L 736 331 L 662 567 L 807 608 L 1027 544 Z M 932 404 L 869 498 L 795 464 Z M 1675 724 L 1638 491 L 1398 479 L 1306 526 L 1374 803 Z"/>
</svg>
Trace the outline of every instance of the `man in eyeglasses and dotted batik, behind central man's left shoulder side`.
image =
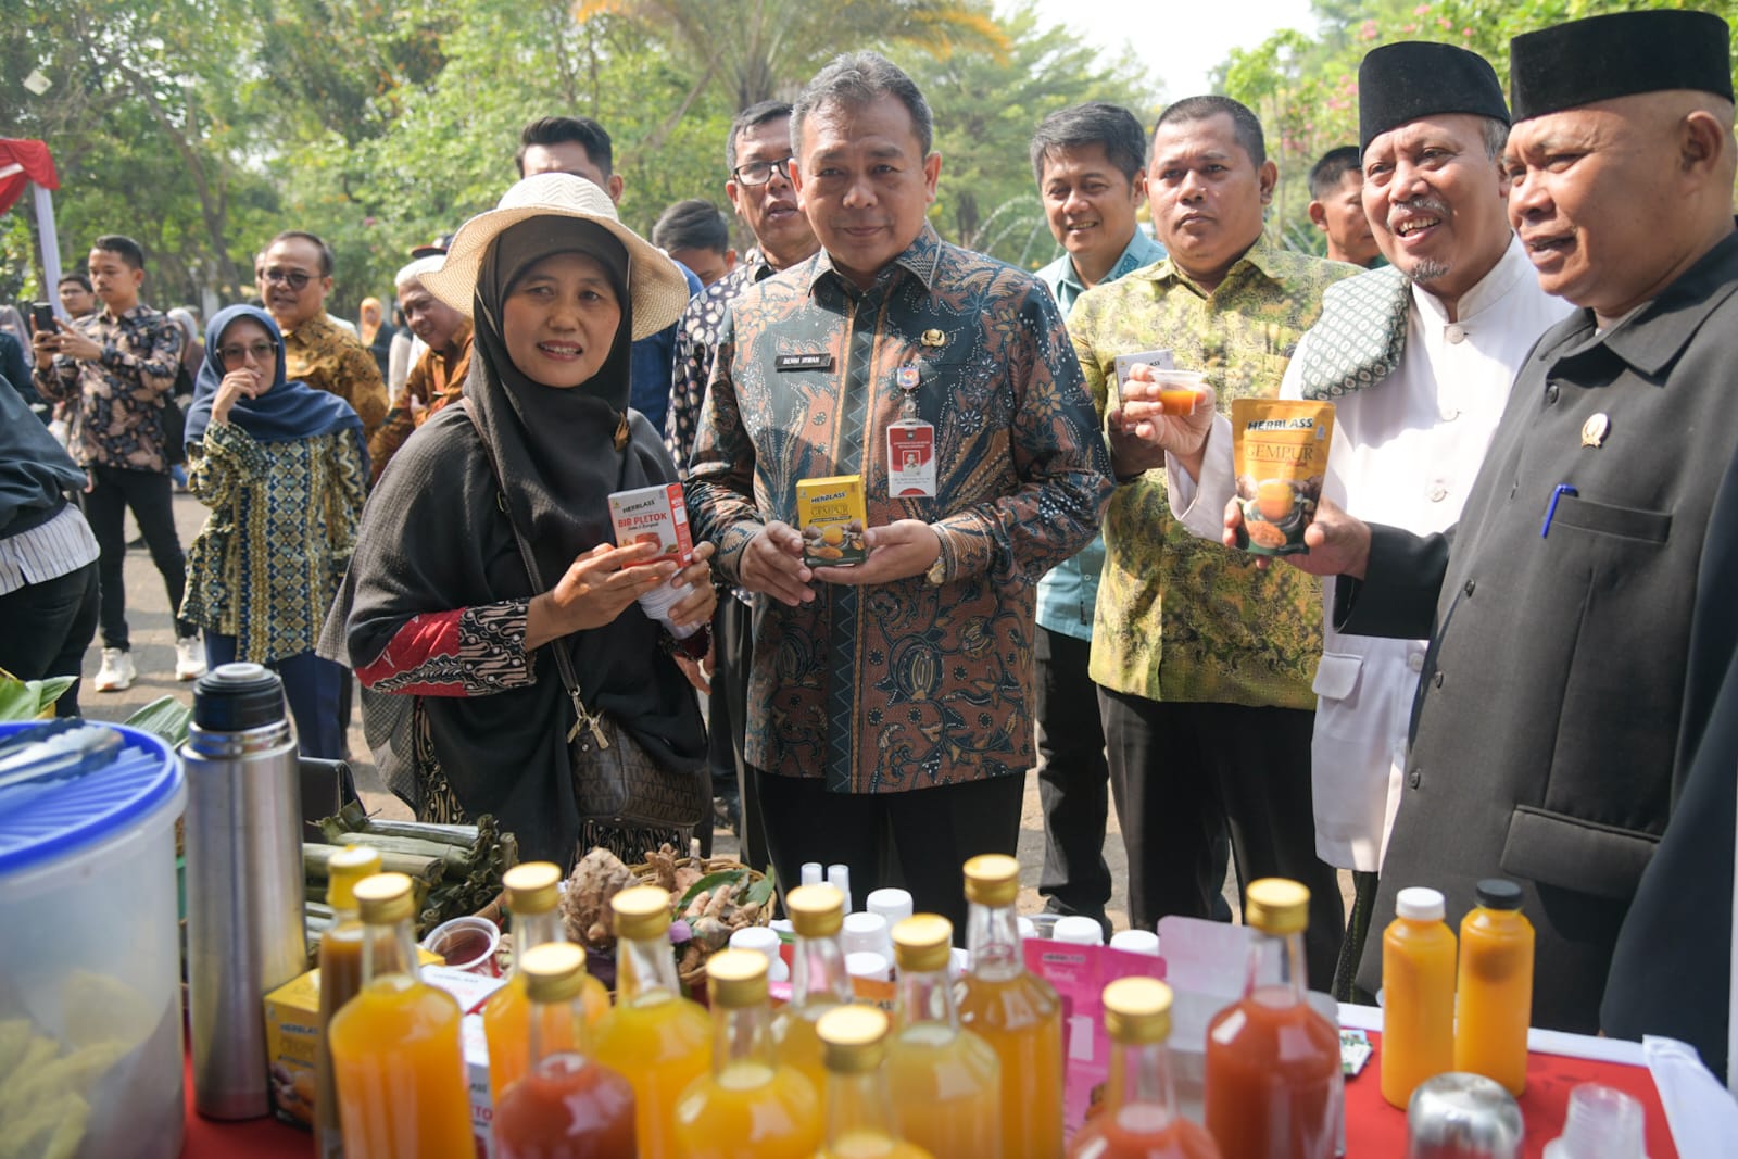
<svg viewBox="0 0 1738 1159">
<path fill-rule="evenodd" d="M 808 217 L 796 203 L 791 184 L 791 106 L 761 101 L 737 113 L 725 137 L 725 196 L 737 217 L 754 235 L 751 248 L 735 269 L 706 287 L 688 302 L 676 332 L 676 384 L 669 396 L 669 421 L 664 443 L 687 471 L 693 450 L 693 431 L 700 422 L 706 379 L 713 374 L 718 330 L 730 302 L 756 281 L 787 269 L 820 248 Z M 749 634 L 753 631 L 747 593 L 720 599 L 713 615 L 713 695 L 707 700 L 713 738 L 713 799 L 721 820 L 739 827 L 749 865 L 766 864 L 766 846 L 760 834 L 760 806 L 754 782 L 742 759 L 744 721 L 747 719 Z"/>
</svg>

